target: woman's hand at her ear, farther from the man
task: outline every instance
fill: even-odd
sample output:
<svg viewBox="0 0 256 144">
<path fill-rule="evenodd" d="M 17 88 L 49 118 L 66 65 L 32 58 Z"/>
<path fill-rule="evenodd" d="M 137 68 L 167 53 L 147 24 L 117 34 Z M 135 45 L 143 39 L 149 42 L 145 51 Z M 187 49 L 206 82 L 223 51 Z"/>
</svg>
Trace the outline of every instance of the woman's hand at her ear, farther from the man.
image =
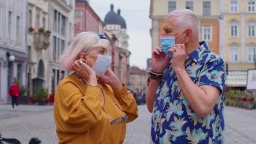
<svg viewBox="0 0 256 144">
<path fill-rule="evenodd" d="M 90 84 L 96 84 L 97 85 L 97 77 L 89 65 L 87 65 L 87 61 L 85 59 L 78 59 L 72 64 L 72 68 L 80 77 L 85 79 L 88 82 L 88 85 Z"/>
</svg>

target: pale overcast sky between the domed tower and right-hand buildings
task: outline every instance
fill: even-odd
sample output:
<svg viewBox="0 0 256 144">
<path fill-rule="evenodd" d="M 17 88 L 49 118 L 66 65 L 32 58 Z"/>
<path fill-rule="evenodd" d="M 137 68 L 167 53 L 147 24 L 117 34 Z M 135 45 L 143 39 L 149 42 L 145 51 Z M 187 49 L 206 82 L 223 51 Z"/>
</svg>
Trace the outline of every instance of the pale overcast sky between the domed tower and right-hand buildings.
<svg viewBox="0 0 256 144">
<path fill-rule="evenodd" d="M 90 0 L 90 6 L 104 21 L 104 17 L 110 11 L 110 4 L 114 4 L 114 11 L 121 10 L 127 26 L 127 34 L 130 39 L 129 51 L 131 51 L 130 65 L 146 69 L 147 58 L 151 57 L 151 38 L 149 29 L 149 0 Z"/>
</svg>

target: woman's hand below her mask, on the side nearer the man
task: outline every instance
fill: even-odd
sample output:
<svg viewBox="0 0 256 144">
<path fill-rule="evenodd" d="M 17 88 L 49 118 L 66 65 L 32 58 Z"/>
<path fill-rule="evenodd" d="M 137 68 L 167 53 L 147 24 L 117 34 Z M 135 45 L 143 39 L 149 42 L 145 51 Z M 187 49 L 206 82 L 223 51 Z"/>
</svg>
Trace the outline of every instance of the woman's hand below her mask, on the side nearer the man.
<svg viewBox="0 0 256 144">
<path fill-rule="evenodd" d="M 114 74 L 114 72 L 111 69 L 107 69 L 106 73 L 102 76 L 98 76 L 98 79 L 101 82 L 104 82 L 108 85 L 110 85 L 113 89 L 122 89 L 123 85 L 121 81 L 118 79 L 118 77 Z"/>
</svg>

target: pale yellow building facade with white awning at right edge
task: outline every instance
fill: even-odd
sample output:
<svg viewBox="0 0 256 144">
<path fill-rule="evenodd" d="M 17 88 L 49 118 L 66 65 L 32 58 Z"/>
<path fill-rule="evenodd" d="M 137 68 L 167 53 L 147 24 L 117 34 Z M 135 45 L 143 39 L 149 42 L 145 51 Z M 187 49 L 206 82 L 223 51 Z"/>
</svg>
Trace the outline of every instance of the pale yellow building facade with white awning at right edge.
<svg viewBox="0 0 256 144">
<path fill-rule="evenodd" d="M 220 56 L 228 67 L 226 86 L 246 87 L 247 70 L 255 68 L 256 1 L 224 0 L 220 8 Z"/>
</svg>

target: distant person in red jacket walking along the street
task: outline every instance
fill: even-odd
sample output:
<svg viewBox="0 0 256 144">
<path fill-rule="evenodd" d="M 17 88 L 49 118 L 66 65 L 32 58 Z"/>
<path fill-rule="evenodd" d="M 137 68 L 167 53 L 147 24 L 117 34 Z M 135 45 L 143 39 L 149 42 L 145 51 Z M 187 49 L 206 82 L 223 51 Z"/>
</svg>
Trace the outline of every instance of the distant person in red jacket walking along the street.
<svg viewBox="0 0 256 144">
<path fill-rule="evenodd" d="M 17 108 L 19 109 L 19 105 L 18 105 L 19 93 L 20 93 L 20 88 L 17 85 L 17 82 L 14 81 L 13 85 L 9 89 L 9 95 L 11 96 L 11 105 L 13 105 L 13 110 L 14 110 L 14 103 L 16 104 Z"/>
</svg>

